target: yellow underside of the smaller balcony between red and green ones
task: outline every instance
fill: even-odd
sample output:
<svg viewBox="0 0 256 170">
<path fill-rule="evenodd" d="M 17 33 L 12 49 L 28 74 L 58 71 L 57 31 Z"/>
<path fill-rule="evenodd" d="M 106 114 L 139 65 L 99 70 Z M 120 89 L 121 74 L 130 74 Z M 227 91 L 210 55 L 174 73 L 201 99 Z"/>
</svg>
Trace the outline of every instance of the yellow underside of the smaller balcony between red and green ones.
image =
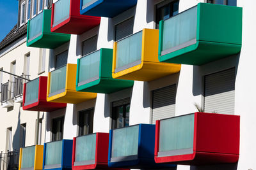
<svg viewBox="0 0 256 170">
<path fill-rule="evenodd" d="M 77 104 L 90 99 L 95 99 L 97 94 L 77 92 L 76 90 L 65 90 L 55 96 L 47 97 L 48 102 Z"/>
</svg>

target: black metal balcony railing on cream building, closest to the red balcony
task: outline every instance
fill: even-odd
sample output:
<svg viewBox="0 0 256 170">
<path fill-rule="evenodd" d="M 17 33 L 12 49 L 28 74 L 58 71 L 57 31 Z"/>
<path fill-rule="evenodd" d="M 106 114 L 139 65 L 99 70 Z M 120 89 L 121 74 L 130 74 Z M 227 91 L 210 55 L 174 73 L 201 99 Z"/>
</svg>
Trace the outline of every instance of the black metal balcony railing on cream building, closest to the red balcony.
<svg viewBox="0 0 256 170">
<path fill-rule="evenodd" d="M 26 79 L 30 78 L 30 76 L 26 75 L 26 74 L 22 74 L 20 77 L 26 78 Z M 20 77 L 16 77 L 15 80 L 14 80 L 13 95 L 14 95 L 15 98 L 20 97 L 20 96 L 23 95 L 23 85 L 24 85 L 24 83 L 28 82 L 28 80 L 24 80 Z"/>
</svg>

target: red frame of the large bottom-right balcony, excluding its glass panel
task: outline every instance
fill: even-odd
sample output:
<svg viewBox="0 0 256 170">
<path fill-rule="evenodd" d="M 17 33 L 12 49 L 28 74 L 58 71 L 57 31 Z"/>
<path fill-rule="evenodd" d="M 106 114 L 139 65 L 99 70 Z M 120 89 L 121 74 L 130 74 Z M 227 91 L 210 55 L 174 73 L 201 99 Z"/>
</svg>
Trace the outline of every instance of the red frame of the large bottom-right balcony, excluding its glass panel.
<svg viewBox="0 0 256 170">
<path fill-rule="evenodd" d="M 239 159 L 240 117 L 216 113 L 195 113 L 193 153 L 157 157 L 160 120 L 156 122 L 157 163 L 204 165 L 235 163 Z"/>
</svg>

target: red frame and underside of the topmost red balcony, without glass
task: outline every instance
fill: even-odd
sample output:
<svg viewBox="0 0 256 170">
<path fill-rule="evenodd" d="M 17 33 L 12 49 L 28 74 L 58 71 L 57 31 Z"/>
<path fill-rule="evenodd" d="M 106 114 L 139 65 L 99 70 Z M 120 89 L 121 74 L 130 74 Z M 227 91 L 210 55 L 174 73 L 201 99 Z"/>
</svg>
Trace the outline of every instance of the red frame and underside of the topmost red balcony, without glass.
<svg viewBox="0 0 256 170">
<path fill-rule="evenodd" d="M 100 24 L 100 17 L 80 14 L 80 0 L 70 0 L 69 18 L 52 27 L 54 19 L 54 4 L 52 4 L 51 32 L 65 34 L 82 34 Z"/>
</svg>

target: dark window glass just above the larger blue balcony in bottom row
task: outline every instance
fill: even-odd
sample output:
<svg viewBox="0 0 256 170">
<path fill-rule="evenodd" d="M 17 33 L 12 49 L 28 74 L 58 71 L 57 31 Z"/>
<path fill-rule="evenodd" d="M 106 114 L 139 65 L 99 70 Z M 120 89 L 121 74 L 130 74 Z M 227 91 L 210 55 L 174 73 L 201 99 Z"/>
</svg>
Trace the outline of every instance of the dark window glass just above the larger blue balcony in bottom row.
<svg viewBox="0 0 256 170">
<path fill-rule="evenodd" d="M 130 104 L 112 108 L 112 129 L 129 126 Z"/>
</svg>

